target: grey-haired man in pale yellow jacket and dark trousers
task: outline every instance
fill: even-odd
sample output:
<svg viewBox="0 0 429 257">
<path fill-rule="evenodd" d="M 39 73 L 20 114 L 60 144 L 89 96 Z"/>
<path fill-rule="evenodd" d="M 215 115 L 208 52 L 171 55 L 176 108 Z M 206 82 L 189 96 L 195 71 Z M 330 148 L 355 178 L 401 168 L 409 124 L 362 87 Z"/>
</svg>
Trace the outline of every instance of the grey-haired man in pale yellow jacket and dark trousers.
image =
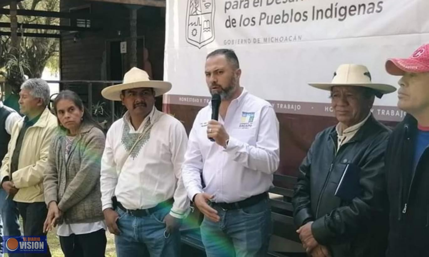
<svg viewBox="0 0 429 257">
<path fill-rule="evenodd" d="M 8 199 L 13 199 L 18 206 L 24 236 L 45 235 L 43 223 L 48 209 L 43 196 L 43 171 L 51 137 L 57 128 L 57 118 L 47 108 L 49 93 L 49 86 L 42 79 L 29 79 L 22 84 L 19 108 L 25 117 L 12 129 L 0 170 L 1 186 Z M 51 256 L 49 248 L 46 254 L 36 256 Z"/>
</svg>

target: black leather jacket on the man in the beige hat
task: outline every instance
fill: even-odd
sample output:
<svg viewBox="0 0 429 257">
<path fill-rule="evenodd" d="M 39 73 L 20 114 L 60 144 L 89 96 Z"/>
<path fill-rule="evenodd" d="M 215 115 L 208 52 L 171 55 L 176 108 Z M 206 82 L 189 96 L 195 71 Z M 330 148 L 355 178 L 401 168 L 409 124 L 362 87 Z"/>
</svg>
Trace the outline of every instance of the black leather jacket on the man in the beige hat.
<svg viewBox="0 0 429 257">
<path fill-rule="evenodd" d="M 311 231 L 333 257 L 380 257 L 387 248 L 387 195 L 384 152 L 390 129 L 370 116 L 335 154 L 334 127 L 317 134 L 299 167 L 293 203 L 297 227 Z M 347 164 L 360 167 L 362 193 L 351 201 L 335 196 Z"/>
</svg>

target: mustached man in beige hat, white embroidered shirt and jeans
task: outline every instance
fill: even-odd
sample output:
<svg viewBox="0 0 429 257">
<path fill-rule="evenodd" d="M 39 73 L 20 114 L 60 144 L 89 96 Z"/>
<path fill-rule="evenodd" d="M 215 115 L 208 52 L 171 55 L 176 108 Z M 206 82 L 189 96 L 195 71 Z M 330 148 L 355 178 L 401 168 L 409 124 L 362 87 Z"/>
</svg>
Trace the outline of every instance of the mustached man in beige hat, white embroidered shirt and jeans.
<svg viewBox="0 0 429 257">
<path fill-rule="evenodd" d="M 109 128 L 101 161 L 101 201 L 118 257 L 147 251 L 180 256 L 178 227 L 189 207 L 181 178 L 187 135 L 154 106 L 155 97 L 170 89 L 169 82 L 151 81 L 134 67 L 124 84 L 101 92 L 128 110 Z"/>
</svg>

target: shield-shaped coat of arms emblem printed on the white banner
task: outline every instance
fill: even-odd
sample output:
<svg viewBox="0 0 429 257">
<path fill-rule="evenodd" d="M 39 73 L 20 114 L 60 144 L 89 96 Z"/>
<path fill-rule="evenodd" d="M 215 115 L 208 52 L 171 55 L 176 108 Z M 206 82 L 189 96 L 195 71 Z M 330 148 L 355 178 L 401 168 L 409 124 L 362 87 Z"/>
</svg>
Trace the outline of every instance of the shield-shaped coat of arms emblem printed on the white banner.
<svg viewBox="0 0 429 257">
<path fill-rule="evenodd" d="M 215 0 L 188 0 L 186 41 L 202 48 L 215 40 Z"/>
</svg>

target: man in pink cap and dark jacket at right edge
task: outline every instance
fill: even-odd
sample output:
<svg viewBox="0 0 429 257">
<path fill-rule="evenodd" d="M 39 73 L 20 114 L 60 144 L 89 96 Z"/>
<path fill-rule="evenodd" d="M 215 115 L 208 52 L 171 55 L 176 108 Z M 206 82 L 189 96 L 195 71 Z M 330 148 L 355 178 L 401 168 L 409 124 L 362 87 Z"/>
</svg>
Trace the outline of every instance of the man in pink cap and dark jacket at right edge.
<svg viewBox="0 0 429 257">
<path fill-rule="evenodd" d="M 386 152 L 390 203 L 388 257 L 429 256 L 429 44 L 407 59 L 389 59 L 399 80 L 398 107 L 408 114 Z"/>
</svg>

